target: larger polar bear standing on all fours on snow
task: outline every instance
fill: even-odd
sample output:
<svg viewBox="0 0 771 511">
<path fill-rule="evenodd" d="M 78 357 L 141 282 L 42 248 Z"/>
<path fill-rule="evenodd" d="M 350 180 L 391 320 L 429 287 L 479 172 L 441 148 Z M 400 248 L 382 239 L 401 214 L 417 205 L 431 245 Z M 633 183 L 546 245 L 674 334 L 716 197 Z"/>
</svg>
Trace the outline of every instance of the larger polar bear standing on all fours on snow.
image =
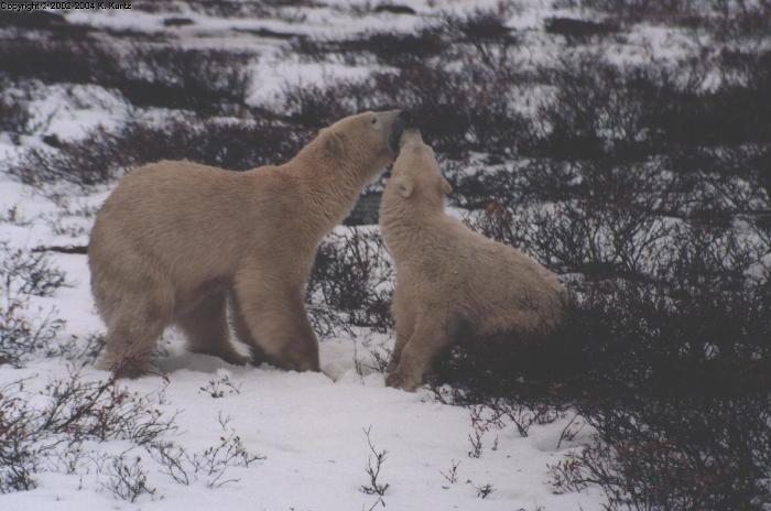
<svg viewBox="0 0 771 511">
<path fill-rule="evenodd" d="M 91 291 L 107 325 L 99 366 L 146 372 L 169 325 L 192 351 L 319 370 L 304 287 L 321 239 L 393 161 L 409 115 L 363 112 L 322 130 L 291 161 L 236 173 L 162 161 L 128 174 L 97 214 Z"/>
</svg>

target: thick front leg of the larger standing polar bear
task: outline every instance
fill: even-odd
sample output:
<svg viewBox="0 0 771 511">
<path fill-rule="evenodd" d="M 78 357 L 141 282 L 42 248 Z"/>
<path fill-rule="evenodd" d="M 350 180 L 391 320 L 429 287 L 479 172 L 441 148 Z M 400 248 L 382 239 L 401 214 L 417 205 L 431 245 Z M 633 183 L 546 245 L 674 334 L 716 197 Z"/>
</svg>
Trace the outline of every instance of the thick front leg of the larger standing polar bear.
<svg viewBox="0 0 771 511">
<path fill-rule="evenodd" d="M 236 295 L 248 340 L 267 361 L 295 371 L 319 371 L 318 341 L 305 311 L 302 284 L 243 272 L 236 280 Z"/>
</svg>

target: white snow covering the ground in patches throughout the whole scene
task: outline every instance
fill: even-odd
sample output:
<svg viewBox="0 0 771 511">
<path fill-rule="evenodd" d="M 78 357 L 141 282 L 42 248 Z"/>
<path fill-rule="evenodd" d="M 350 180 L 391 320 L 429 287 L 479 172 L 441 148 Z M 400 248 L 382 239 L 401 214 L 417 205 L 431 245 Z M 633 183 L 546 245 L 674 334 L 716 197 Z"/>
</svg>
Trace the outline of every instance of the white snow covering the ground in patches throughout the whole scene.
<svg viewBox="0 0 771 511">
<path fill-rule="evenodd" d="M 175 44 L 256 52 L 250 64 L 254 79 L 249 102 L 259 106 L 276 100 L 285 83 L 324 84 L 335 77 L 365 77 L 379 69 L 374 64 L 305 62 L 287 54 L 286 43 L 280 37 L 265 36 L 264 31 L 340 40 L 371 30 L 412 30 L 441 14 L 437 3 L 457 12 L 495 7 L 497 1 L 420 1 L 413 6 L 419 15 L 355 14 L 357 7 L 370 3 L 339 1 L 315 6 L 310 2 L 315 7 L 278 9 L 271 19 L 217 18 L 183 9 L 176 13 L 84 10 L 68 13 L 67 20 L 113 31 L 164 31 L 170 36 L 164 18 L 189 18 L 192 24 L 172 30 L 170 37 Z M 546 17 L 571 14 L 571 11 L 552 9 L 546 0 L 515 4 L 518 8 L 508 25 L 521 31 L 526 42 L 517 51 L 525 53 L 532 65 L 564 55 L 566 47 L 546 40 L 541 29 Z M 696 51 L 689 47 L 692 43 L 683 40 L 676 30 L 636 25 L 627 45 L 610 45 L 605 50 L 613 62 L 634 62 L 639 58 L 636 48 L 643 47 L 652 48 L 659 58 L 682 58 Z M 523 93 L 522 111 L 532 111 L 529 96 L 534 94 L 533 89 Z M 21 144 L 0 133 L 0 157 L 7 162 L 31 146 L 41 145 L 45 135 L 55 134 L 66 141 L 80 139 L 95 127 L 120 126 L 131 108 L 98 86 L 41 85 L 36 94 L 30 104 L 32 133 L 22 135 Z M 41 189 L 0 174 L 0 241 L 23 250 L 86 244 L 94 211 L 112 185 L 89 192 L 65 185 Z M 74 338 L 75 343 L 85 343 L 89 335 L 104 331 L 90 296 L 86 257 L 51 253 L 50 258 L 53 265 L 64 271 L 67 284 L 53 296 L 30 297 L 30 311 L 40 311 L 41 315 L 55 311 L 55 316 L 66 322 L 58 340 Z M 604 500 L 598 490 L 555 494 L 549 482 L 547 465 L 560 461 L 566 452 L 587 442 L 591 433 L 588 427 L 566 442 L 562 433 L 569 417 L 533 425 L 526 437 L 520 436 L 512 425 L 506 425 L 500 431 L 488 432 L 481 456 L 471 457 L 469 411 L 437 403 L 427 390 L 412 394 L 386 388 L 383 374 L 369 368 L 372 365 L 369 346 L 388 348 L 393 339 L 366 330 L 355 331 L 356 337 L 340 335 L 322 341 L 323 373 L 228 366 L 213 357 L 186 352 L 182 337 L 167 331 L 162 343 L 164 354 L 156 360 L 163 376 L 121 381 L 120 385 L 142 395 L 162 391 L 158 406 L 167 416 L 175 415 L 178 426 L 169 434 L 169 439 L 189 452 L 217 444 L 222 435 L 218 420 L 229 417 L 228 426 L 237 432 L 245 448 L 264 459 L 249 467 L 229 468 L 228 478 L 232 480 L 218 488 L 209 488 L 205 477 L 184 486 L 163 474 L 141 447 L 124 441 L 87 443 L 85 448 L 94 456 L 141 457 L 148 486 L 154 493 L 141 494 L 134 502 L 118 500 L 107 488 L 109 474 L 96 465 L 76 474 L 42 467 L 35 475 L 36 488 L 0 494 L 0 509 L 601 509 Z M 72 368 L 69 360 L 42 355 L 26 360 L 21 369 L 0 365 L 0 391 L 7 384 L 25 380 L 25 390 L 32 395 L 44 391 L 51 381 L 66 378 Z M 80 370 L 83 380 L 108 377 L 90 365 Z M 209 382 L 224 379 L 232 387 L 225 387 L 221 398 L 213 399 L 202 391 Z M 381 483 L 389 485 L 382 500 L 361 491 L 369 483 L 365 469 L 372 457 L 365 430 L 370 431 L 377 450 L 388 452 L 379 476 Z M 453 465 L 457 465 L 457 478 L 450 482 L 446 475 Z M 481 498 L 479 488 L 486 485 L 492 491 Z"/>
</svg>

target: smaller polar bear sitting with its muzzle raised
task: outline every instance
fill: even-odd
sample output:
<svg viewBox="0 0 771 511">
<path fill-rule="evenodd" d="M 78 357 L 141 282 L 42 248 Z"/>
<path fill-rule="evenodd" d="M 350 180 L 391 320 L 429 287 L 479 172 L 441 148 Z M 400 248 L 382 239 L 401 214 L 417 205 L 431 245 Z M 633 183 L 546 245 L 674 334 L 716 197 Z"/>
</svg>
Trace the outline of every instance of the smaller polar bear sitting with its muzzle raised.
<svg viewBox="0 0 771 511">
<path fill-rule="evenodd" d="M 380 206 L 380 229 L 397 269 L 397 341 L 387 383 L 415 390 L 459 334 L 545 333 L 567 294 L 556 275 L 448 216 L 452 192 L 420 132 L 404 131 Z"/>
</svg>

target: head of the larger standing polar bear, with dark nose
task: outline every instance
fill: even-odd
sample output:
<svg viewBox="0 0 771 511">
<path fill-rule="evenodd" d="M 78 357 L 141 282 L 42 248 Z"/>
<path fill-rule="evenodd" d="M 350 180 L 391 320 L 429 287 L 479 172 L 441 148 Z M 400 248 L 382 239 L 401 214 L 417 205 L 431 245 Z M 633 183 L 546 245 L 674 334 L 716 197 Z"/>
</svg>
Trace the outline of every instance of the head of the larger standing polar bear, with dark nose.
<svg viewBox="0 0 771 511">
<path fill-rule="evenodd" d="M 404 110 L 366 111 L 325 128 L 319 139 L 328 156 L 377 173 L 397 157 L 400 137 L 409 123 L 410 112 Z"/>
</svg>

